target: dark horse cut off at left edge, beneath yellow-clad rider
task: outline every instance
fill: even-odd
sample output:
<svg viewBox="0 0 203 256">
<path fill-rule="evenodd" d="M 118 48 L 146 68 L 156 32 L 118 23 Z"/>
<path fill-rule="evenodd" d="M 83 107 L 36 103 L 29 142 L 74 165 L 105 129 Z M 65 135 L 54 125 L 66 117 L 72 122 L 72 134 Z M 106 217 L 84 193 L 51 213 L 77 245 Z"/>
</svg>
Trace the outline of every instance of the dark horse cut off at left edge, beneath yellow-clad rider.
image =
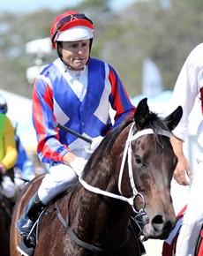
<svg viewBox="0 0 203 256">
<path fill-rule="evenodd" d="M 2 177 L 0 176 L 0 186 Z M 0 192 L 0 255 L 10 256 L 11 202 Z"/>
</svg>

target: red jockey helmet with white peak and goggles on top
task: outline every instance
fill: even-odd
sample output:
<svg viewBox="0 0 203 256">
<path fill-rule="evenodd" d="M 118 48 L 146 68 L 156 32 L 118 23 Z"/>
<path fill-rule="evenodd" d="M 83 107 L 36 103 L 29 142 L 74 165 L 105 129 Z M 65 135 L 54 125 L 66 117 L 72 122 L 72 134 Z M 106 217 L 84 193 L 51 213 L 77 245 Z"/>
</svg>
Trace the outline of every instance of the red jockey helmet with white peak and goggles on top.
<svg viewBox="0 0 203 256">
<path fill-rule="evenodd" d="M 79 41 L 94 38 L 93 22 L 85 14 L 67 11 L 54 20 L 50 30 L 52 46 L 56 41 Z"/>
</svg>

